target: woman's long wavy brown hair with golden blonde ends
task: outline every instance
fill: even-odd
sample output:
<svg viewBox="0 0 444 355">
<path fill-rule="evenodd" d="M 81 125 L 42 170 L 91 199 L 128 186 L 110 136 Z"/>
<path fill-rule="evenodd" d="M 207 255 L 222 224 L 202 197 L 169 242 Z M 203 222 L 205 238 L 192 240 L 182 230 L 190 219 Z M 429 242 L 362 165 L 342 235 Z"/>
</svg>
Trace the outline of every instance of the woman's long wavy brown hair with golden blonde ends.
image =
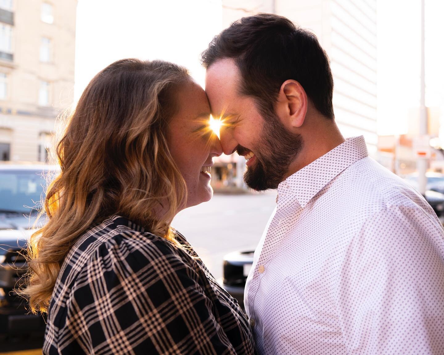
<svg viewBox="0 0 444 355">
<path fill-rule="evenodd" d="M 119 214 L 174 241 L 170 222 L 186 202 L 186 185 L 168 150 L 172 91 L 190 81 L 185 68 L 122 59 L 88 84 L 56 154 L 60 174 L 44 200 L 48 222 L 28 245 L 26 288 L 32 312 L 47 312 L 67 252 L 88 227 Z M 167 206 L 158 219 L 159 204 Z"/>
</svg>

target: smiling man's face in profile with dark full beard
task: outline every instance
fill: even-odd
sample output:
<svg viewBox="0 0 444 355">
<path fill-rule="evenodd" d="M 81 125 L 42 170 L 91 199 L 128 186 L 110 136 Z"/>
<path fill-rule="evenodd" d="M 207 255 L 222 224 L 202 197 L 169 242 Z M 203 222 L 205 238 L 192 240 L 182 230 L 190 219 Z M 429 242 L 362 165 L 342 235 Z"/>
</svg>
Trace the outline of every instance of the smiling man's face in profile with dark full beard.
<svg viewBox="0 0 444 355">
<path fill-rule="evenodd" d="M 211 112 L 222 119 L 222 149 L 247 159 L 244 180 L 250 188 L 276 189 L 301 150 L 302 139 L 289 133 L 274 114 L 262 117 L 254 99 L 239 95 L 240 82 L 233 59 L 222 59 L 206 71 Z"/>
</svg>

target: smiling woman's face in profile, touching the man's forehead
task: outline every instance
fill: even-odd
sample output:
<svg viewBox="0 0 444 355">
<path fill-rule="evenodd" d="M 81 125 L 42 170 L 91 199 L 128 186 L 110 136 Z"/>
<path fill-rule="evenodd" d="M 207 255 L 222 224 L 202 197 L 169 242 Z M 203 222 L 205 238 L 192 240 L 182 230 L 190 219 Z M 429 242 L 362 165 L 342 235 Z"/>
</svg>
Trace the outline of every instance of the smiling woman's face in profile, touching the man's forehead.
<svg viewBox="0 0 444 355">
<path fill-rule="evenodd" d="M 168 141 L 174 162 L 186 181 L 186 207 L 213 196 L 211 175 L 206 170 L 222 154 L 219 138 L 210 130 L 210 105 L 198 84 L 183 84 L 177 92 L 178 110 L 170 119 Z"/>
</svg>

